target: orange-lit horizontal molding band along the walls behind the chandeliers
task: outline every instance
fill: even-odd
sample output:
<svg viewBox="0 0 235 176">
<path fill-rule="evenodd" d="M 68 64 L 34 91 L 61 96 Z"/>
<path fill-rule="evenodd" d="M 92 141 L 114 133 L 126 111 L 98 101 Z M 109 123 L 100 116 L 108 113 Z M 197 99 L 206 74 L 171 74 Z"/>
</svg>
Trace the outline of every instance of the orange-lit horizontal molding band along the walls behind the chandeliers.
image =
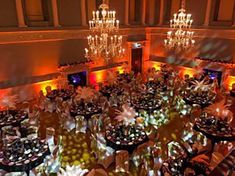
<svg viewBox="0 0 235 176">
<path fill-rule="evenodd" d="M 120 34 L 125 37 L 138 35 L 166 35 L 169 28 L 163 27 L 138 27 L 122 28 Z M 194 29 L 196 37 L 235 39 L 235 30 L 229 29 Z M 11 31 L 0 32 L 0 44 L 47 42 L 69 39 L 86 39 L 88 30 L 85 29 L 52 29 L 38 31 Z"/>
</svg>

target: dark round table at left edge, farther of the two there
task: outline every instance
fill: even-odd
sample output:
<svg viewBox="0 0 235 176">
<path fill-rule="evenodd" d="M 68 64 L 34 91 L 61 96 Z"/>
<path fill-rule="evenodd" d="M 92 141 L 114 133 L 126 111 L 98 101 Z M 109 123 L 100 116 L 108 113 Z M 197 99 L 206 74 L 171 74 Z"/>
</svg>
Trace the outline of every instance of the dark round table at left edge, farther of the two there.
<svg viewBox="0 0 235 176">
<path fill-rule="evenodd" d="M 4 126 L 20 126 L 28 118 L 28 113 L 22 110 L 0 111 L 0 129 Z"/>
</svg>

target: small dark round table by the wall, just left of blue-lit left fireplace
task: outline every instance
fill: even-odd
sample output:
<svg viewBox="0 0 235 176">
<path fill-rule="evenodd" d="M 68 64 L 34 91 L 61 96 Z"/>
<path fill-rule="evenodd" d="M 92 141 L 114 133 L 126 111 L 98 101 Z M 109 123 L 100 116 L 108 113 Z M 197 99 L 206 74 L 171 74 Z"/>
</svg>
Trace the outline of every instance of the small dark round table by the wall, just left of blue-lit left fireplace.
<svg viewBox="0 0 235 176">
<path fill-rule="evenodd" d="M 57 97 L 60 97 L 63 99 L 63 101 L 67 101 L 72 97 L 73 94 L 74 91 L 69 89 L 55 89 L 48 93 L 46 97 L 50 100 L 55 100 Z"/>
</svg>

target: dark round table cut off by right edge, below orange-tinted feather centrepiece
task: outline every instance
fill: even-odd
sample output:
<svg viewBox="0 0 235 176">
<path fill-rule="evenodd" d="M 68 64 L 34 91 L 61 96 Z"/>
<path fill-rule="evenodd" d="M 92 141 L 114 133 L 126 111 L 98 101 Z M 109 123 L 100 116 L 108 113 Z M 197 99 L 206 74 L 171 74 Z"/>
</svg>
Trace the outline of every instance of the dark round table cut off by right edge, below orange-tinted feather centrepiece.
<svg viewBox="0 0 235 176">
<path fill-rule="evenodd" d="M 206 114 L 196 119 L 193 128 L 211 140 L 211 152 L 214 151 L 215 143 L 220 141 L 235 141 L 234 127 L 231 127 L 226 121 L 217 121 L 214 117 L 207 116 Z"/>
</svg>

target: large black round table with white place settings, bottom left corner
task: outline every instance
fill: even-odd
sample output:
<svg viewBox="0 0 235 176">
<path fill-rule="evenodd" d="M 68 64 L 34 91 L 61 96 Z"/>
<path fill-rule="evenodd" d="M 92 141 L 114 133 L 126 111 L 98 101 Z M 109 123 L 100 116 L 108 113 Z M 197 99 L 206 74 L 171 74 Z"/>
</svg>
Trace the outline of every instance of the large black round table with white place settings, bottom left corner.
<svg viewBox="0 0 235 176">
<path fill-rule="evenodd" d="M 39 139 L 21 138 L 0 153 L 0 169 L 7 172 L 26 172 L 43 163 L 44 158 L 50 155 L 48 144 Z"/>
</svg>

